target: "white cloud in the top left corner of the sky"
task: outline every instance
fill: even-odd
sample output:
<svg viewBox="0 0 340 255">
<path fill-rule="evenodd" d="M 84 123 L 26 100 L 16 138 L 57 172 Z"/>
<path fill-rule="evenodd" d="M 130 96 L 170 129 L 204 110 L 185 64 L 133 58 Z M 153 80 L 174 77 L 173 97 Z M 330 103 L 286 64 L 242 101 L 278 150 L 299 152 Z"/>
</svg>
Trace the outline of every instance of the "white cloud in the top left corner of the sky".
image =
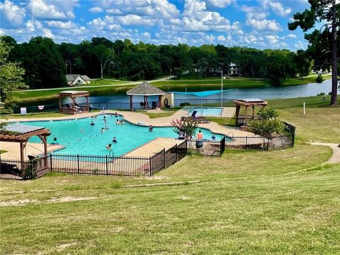
<svg viewBox="0 0 340 255">
<path fill-rule="evenodd" d="M 25 9 L 5 0 L 0 2 L 1 27 L 16 28 L 23 25 L 23 19 L 26 17 Z"/>
</svg>

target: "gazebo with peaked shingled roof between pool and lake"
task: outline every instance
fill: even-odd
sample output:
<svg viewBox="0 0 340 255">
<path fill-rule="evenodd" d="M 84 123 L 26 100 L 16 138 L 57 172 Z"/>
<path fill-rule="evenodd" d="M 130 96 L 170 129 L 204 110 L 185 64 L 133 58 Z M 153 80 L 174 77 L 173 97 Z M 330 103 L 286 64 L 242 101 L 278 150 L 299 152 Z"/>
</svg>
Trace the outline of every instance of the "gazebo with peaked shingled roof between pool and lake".
<svg viewBox="0 0 340 255">
<path fill-rule="evenodd" d="M 147 97 L 158 96 L 158 106 L 159 108 L 162 108 L 162 95 L 165 95 L 165 92 L 155 86 L 152 86 L 149 84 L 149 82 L 143 81 L 142 84 L 139 84 L 135 88 L 126 91 L 126 94 L 130 96 L 130 110 L 133 111 L 133 96 L 144 96 L 144 102 L 141 102 L 140 106 L 147 110 Z"/>
</svg>

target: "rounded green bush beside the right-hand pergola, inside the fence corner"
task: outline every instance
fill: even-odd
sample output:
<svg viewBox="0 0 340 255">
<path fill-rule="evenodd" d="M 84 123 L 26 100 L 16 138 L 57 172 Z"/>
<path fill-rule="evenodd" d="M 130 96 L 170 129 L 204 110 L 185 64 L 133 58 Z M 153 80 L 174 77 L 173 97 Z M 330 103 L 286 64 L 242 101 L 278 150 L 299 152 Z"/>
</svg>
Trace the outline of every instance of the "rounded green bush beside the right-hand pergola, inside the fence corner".
<svg viewBox="0 0 340 255">
<path fill-rule="evenodd" d="M 284 128 L 283 123 L 276 118 L 268 120 L 252 120 L 249 123 L 249 130 L 256 135 L 261 135 L 263 137 L 282 135 Z"/>
</svg>

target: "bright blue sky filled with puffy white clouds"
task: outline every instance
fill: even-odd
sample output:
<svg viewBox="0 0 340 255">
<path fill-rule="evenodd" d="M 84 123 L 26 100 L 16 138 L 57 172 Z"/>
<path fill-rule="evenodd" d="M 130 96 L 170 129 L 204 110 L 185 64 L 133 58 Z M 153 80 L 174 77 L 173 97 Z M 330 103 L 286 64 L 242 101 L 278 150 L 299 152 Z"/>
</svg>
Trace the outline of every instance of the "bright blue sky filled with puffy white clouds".
<svg viewBox="0 0 340 255">
<path fill-rule="evenodd" d="M 18 42 L 41 35 L 55 42 L 109 40 L 259 49 L 305 49 L 300 29 L 288 30 L 307 0 L 0 0 L 0 35 Z"/>
</svg>

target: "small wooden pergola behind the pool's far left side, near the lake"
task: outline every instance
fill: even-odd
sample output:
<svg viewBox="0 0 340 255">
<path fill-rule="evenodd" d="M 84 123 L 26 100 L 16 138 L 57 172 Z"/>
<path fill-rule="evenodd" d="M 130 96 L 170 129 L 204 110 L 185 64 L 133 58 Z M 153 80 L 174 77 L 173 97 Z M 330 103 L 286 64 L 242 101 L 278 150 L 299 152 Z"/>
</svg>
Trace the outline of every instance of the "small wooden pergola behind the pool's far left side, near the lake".
<svg viewBox="0 0 340 255">
<path fill-rule="evenodd" d="M 59 96 L 59 111 L 60 113 L 89 113 L 89 91 L 61 91 L 58 93 Z M 86 106 L 79 107 L 77 106 L 76 98 L 77 97 L 86 97 Z M 72 106 L 62 106 L 62 98 L 69 97 L 72 99 Z"/>
</svg>

